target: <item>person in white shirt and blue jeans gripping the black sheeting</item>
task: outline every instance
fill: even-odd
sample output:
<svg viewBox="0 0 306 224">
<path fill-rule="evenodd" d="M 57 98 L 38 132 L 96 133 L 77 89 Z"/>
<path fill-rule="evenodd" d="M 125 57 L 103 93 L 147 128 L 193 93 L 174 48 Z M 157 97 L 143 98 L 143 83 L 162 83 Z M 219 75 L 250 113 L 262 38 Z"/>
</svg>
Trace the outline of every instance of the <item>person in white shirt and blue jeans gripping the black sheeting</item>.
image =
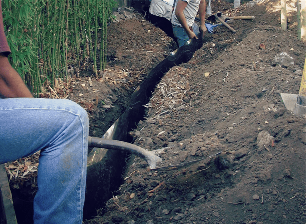
<svg viewBox="0 0 306 224">
<path fill-rule="evenodd" d="M 206 34 L 205 8 L 205 0 L 179 0 L 175 2 L 171 22 L 173 34 L 177 38 L 179 47 L 184 45 L 189 39 L 197 39 L 196 35 L 200 31 L 203 31 L 203 36 Z M 200 15 L 200 27 L 194 23 L 198 11 Z"/>
</svg>

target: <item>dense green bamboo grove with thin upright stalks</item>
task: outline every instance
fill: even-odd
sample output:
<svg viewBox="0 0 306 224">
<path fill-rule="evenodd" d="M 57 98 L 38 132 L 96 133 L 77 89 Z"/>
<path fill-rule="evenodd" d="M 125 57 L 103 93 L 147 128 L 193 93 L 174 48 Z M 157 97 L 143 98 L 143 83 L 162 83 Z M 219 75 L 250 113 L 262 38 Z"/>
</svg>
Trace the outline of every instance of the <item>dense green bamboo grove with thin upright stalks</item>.
<svg viewBox="0 0 306 224">
<path fill-rule="evenodd" d="M 96 76 L 105 69 L 106 27 L 116 4 L 2 1 L 4 30 L 12 51 L 9 60 L 35 96 L 58 78 L 68 81 L 86 61 L 93 61 L 88 70 Z"/>
</svg>

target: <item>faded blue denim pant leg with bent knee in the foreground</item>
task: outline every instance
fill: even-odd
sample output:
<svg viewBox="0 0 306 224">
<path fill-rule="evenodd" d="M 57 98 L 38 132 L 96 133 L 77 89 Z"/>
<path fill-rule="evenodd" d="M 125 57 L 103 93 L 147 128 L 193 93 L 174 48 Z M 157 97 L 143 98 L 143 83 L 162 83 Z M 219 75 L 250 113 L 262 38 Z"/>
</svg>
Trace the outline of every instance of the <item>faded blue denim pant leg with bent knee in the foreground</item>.
<svg viewBox="0 0 306 224">
<path fill-rule="evenodd" d="M 34 223 L 82 223 L 88 115 L 65 99 L 0 99 L 0 164 L 41 150 Z"/>
</svg>

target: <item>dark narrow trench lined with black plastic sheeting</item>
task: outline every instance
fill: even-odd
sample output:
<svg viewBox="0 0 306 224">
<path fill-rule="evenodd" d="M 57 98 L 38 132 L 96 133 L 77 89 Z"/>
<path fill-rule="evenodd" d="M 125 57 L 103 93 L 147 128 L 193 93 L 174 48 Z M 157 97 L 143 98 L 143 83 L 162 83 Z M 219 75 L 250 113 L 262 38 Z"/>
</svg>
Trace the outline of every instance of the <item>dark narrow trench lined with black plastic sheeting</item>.
<svg viewBox="0 0 306 224">
<path fill-rule="evenodd" d="M 243 35 L 246 35 L 244 32 Z M 243 37 L 241 37 L 243 38 Z M 155 85 L 160 81 L 162 76 L 169 71 L 173 66 L 188 62 L 193 53 L 202 47 L 203 42 L 211 39 L 211 35 L 205 36 L 202 40 L 202 33 L 198 35 L 198 40 L 192 40 L 181 48 L 172 52 L 166 59 L 157 64 L 147 75 L 147 78 L 136 88 L 131 96 L 129 107 L 119 117 L 118 123 L 114 127 L 112 139 L 127 141 L 128 132 L 136 128 L 136 124 L 144 118 L 144 106 L 148 99 L 151 98 L 151 92 L 154 91 Z M 226 43 L 222 46 L 217 46 L 219 49 L 230 47 Z M 221 51 L 220 51 L 221 52 Z M 218 53 L 215 55 L 218 56 Z M 212 59 L 211 59 L 212 60 Z M 109 198 L 116 195 L 115 188 L 122 183 L 121 175 L 125 166 L 125 158 L 127 155 L 120 151 L 105 150 L 103 152 L 103 159 L 95 164 L 88 166 L 87 175 L 87 192 L 84 204 L 84 219 L 88 219 L 96 215 L 96 210 L 103 208 L 103 203 Z M 96 154 L 94 154 L 96 156 Z M 89 158 L 89 161 L 91 157 Z M 217 167 L 224 166 L 224 162 L 220 161 Z M 217 164 L 217 163 L 216 163 Z M 94 184 L 93 184 L 94 183 Z M 115 188 L 112 188 L 115 187 Z M 101 194 L 103 192 L 103 194 Z"/>
</svg>

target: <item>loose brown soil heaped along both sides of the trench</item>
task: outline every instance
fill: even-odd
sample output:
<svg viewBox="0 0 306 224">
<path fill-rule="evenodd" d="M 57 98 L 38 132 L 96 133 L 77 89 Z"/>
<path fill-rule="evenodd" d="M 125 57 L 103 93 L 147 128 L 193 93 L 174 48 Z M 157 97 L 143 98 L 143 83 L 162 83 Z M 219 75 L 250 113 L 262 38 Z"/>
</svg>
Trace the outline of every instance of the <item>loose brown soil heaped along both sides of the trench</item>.
<svg viewBox="0 0 306 224">
<path fill-rule="evenodd" d="M 306 222 L 305 117 L 286 110 L 279 94 L 298 93 L 304 67 L 296 1 L 287 1 L 286 31 L 279 1 L 238 9 L 228 1 L 213 3 L 213 13 L 255 20 L 230 21 L 235 34 L 224 26 L 207 33 L 193 58 L 162 78 L 147 117 L 130 135 L 147 150 L 165 148 L 157 154 L 163 159 L 158 166 L 221 154 L 169 171 L 149 170 L 145 161 L 130 156 L 122 185 L 85 224 Z M 101 137 L 128 106 L 133 90 L 174 49 L 175 42 L 143 15 L 111 23 L 108 69 L 91 77 L 90 86 L 89 61 L 79 78 L 59 82 L 55 91 L 88 110 L 90 135 Z M 274 57 L 281 52 L 292 56 L 294 65 L 277 65 Z M 11 189 L 27 186 L 34 195 L 35 173 L 17 180 L 9 175 Z"/>
</svg>

